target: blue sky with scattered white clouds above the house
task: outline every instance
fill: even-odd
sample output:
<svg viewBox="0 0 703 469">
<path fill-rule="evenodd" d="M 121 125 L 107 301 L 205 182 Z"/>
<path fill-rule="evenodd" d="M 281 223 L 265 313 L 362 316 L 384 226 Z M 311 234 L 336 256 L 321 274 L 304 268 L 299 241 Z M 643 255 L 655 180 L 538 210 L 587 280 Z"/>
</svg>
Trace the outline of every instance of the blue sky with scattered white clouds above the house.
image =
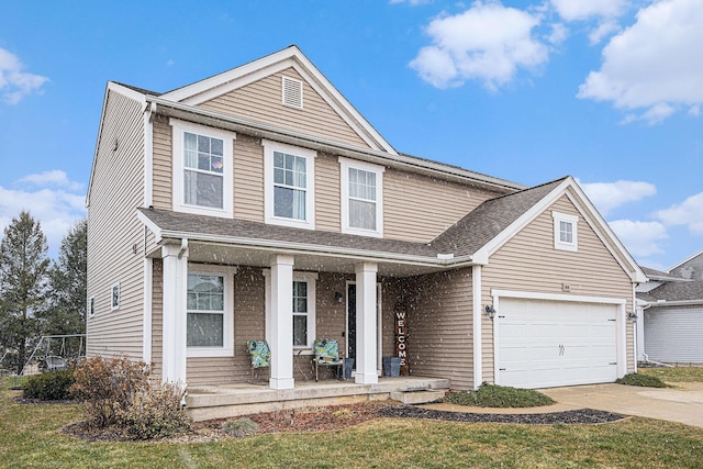
<svg viewBox="0 0 703 469">
<path fill-rule="evenodd" d="M 165 92 L 297 44 L 399 152 L 572 175 L 648 267 L 703 249 L 703 1 L 212 3 L 0 7 L 0 227 L 29 209 L 55 255 L 85 216 L 108 80 Z"/>
</svg>

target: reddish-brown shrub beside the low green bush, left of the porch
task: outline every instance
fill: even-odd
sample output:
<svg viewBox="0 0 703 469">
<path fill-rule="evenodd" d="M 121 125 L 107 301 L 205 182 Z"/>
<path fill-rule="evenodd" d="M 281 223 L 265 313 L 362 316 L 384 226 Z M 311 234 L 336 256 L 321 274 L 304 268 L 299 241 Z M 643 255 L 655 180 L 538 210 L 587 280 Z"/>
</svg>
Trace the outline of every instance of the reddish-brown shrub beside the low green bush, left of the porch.
<svg viewBox="0 0 703 469">
<path fill-rule="evenodd" d="M 93 357 L 74 372 L 71 395 L 82 401 L 86 423 L 104 428 L 118 423 L 118 414 L 132 405 L 133 395 L 149 387 L 149 367 L 127 357 Z"/>
</svg>

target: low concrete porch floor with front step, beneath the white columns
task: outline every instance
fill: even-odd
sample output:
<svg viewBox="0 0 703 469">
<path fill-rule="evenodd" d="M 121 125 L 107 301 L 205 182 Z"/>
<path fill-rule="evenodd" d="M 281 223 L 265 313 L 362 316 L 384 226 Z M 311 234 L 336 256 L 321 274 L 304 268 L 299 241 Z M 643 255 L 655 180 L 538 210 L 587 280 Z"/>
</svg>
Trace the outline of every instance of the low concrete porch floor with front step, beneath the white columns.
<svg viewBox="0 0 703 469">
<path fill-rule="evenodd" d="M 196 422 L 226 418 L 313 405 L 338 405 L 365 401 L 400 400 L 420 403 L 436 400 L 449 390 L 448 379 L 379 378 L 377 384 L 354 381 L 297 381 L 295 389 L 275 390 L 267 383 L 198 386 L 188 389 L 187 410 Z"/>
</svg>

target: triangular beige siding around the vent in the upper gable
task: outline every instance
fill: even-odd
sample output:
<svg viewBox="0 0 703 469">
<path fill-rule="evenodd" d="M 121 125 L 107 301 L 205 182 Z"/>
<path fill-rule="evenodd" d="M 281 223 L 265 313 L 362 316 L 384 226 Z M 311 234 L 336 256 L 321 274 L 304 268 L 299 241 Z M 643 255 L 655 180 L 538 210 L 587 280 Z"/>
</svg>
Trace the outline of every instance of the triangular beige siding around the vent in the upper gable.
<svg viewBox="0 0 703 469">
<path fill-rule="evenodd" d="M 303 109 L 281 102 L 282 76 L 303 81 Z M 200 104 L 201 108 L 368 148 L 368 144 L 293 68 Z"/>
</svg>

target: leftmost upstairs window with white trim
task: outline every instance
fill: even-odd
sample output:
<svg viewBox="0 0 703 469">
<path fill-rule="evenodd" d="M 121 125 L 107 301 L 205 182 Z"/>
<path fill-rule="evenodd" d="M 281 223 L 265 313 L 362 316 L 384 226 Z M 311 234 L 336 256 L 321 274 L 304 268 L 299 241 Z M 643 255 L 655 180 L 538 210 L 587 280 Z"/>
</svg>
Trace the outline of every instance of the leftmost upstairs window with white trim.
<svg viewBox="0 0 703 469">
<path fill-rule="evenodd" d="M 174 210 L 232 216 L 233 133 L 171 120 Z"/>
</svg>

